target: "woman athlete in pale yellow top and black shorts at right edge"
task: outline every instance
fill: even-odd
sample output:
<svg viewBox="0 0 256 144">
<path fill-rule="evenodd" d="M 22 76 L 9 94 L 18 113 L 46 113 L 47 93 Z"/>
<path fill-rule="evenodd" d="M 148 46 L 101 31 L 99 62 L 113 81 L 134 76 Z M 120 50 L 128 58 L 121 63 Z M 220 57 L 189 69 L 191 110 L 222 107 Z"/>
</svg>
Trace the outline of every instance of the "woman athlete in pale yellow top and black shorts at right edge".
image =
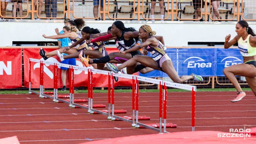
<svg viewBox="0 0 256 144">
<path fill-rule="evenodd" d="M 246 96 L 235 76 L 244 76 L 256 96 L 256 34 L 245 20 L 240 20 L 236 24 L 236 33 L 232 40 L 230 40 L 231 35 L 227 35 L 224 44 L 224 48 L 227 49 L 238 42 L 239 51 L 244 58 L 244 64 L 232 65 L 223 70 L 224 75 L 237 90 L 236 98 L 231 102 L 237 102 Z"/>
</svg>

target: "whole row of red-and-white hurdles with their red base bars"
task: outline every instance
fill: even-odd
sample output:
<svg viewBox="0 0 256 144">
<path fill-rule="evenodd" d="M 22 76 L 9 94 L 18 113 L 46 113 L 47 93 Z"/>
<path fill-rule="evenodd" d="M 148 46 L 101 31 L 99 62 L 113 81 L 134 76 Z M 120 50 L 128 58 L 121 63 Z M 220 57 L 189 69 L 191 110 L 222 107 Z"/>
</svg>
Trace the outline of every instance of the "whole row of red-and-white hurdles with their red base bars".
<svg viewBox="0 0 256 144">
<path fill-rule="evenodd" d="M 70 66 L 67 64 L 60 64 L 60 63 L 54 63 L 54 62 L 48 62 L 48 61 L 42 61 L 37 59 L 30 58 L 30 66 L 29 66 L 29 82 L 31 82 L 31 62 L 38 62 L 40 63 L 40 92 L 35 92 L 31 90 L 31 83 L 29 83 L 29 92 L 39 94 L 40 98 L 47 97 L 47 98 L 55 98 L 55 102 L 64 102 L 68 103 L 69 106 L 72 108 L 79 107 L 84 108 L 88 110 L 88 113 L 90 114 L 104 114 L 108 116 L 108 120 L 123 120 L 126 122 L 132 123 L 132 126 L 135 128 L 148 128 L 151 130 L 155 130 L 159 133 L 162 133 L 162 128 L 164 128 L 163 133 L 166 133 L 166 128 L 174 128 L 176 127 L 175 124 L 172 123 L 166 123 L 166 113 L 167 113 L 167 87 L 172 88 L 179 88 L 184 90 L 190 90 L 192 91 L 192 131 L 194 131 L 195 126 L 195 92 L 196 92 L 196 86 L 190 86 L 186 84 L 177 84 L 174 82 L 166 82 L 163 80 L 156 80 L 152 78 L 146 78 L 142 76 L 134 76 L 129 74 L 115 74 L 113 72 L 104 71 L 104 70 L 97 70 L 97 69 L 90 69 L 90 68 L 84 68 L 79 66 Z M 43 79 L 44 79 L 44 64 L 49 64 L 54 66 L 54 95 L 55 96 L 49 96 L 44 94 L 43 92 Z M 58 66 L 70 68 L 70 99 L 69 100 L 62 100 L 58 98 Z M 75 104 L 74 99 L 74 70 L 83 70 L 88 71 L 88 105 L 79 105 Z M 97 74 L 104 74 L 108 75 L 108 110 L 96 110 L 94 108 L 101 107 L 102 104 L 93 104 L 93 73 Z M 127 116 L 117 116 L 115 114 L 120 114 L 121 112 L 126 113 L 124 110 L 115 110 L 114 109 L 114 76 L 118 76 L 120 78 L 126 78 L 132 80 L 132 118 Z M 138 98 L 139 98 L 139 85 L 138 81 L 143 82 L 150 82 L 153 84 L 159 84 L 160 90 L 159 90 L 159 124 L 143 124 L 138 122 L 138 120 L 147 120 L 148 118 L 143 118 L 142 116 L 139 116 L 138 113 Z M 164 92 L 162 88 L 164 87 Z M 164 95 L 164 96 L 163 96 Z M 112 102 L 111 102 L 112 100 Z M 83 102 L 85 102 L 83 100 Z M 136 109 L 135 109 L 136 104 Z M 111 110 L 112 106 L 112 110 Z M 106 106 L 105 106 L 106 107 Z M 162 110 L 162 108 L 164 110 Z M 135 116 L 135 110 L 136 110 L 136 116 Z M 164 123 L 162 124 L 162 118 L 164 120 Z M 136 122 L 135 122 L 136 121 Z"/>
</svg>

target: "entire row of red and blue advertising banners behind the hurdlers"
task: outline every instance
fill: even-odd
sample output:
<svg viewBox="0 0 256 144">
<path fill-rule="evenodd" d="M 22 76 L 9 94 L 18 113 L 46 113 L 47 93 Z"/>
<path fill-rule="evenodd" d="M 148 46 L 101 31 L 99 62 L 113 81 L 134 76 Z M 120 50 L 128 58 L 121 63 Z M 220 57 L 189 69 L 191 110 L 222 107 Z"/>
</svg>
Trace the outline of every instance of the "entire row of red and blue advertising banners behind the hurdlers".
<svg viewBox="0 0 256 144">
<path fill-rule="evenodd" d="M 56 47 L 54 47 L 56 48 Z M 28 71 L 29 58 L 42 59 L 39 55 L 39 47 L 37 48 L 22 48 L 24 61 L 24 87 L 28 88 Z M 22 87 L 22 49 L 21 48 L 3 48 L 0 50 L 0 88 L 20 88 Z M 44 48 L 46 52 L 56 50 L 53 48 Z M 111 52 L 118 52 L 116 48 L 106 48 L 108 54 Z M 189 75 L 191 73 L 199 74 L 203 77 L 208 76 L 224 76 L 223 69 L 234 65 L 243 63 L 242 55 L 238 48 L 167 48 L 168 56 L 172 60 L 172 64 L 179 76 Z M 149 56 L 151 54 L 149 53 Z M 57 56 L 48 58 L 49 62 L 59 62 Z M 31 63 L 31 88 L 39 88 L 39 72 L 40 64 L 36 62 Z M 83 63 L 76 59 L 77 66 L 84 66 Z M 119 65 L 119 64 L 117 64 Z M 59 74 L 61 74 L 61 70 Z M 53 66 L 44 64 L 44 88 L 53 87 Z M 87 86 L 88 72 L 81 70 L 74 70 L 75 86 Z M 154 70 L 147 74 L 136 73 L 134 75 L 150 77 L 150 78 L 165 78 L 168 75 L 162 71 Z M 69 86 L 69 70 L 67 72 L 67 87 Z M 108 80 L 101 74 L 95 74 L 93 78 L 95 87 L 106 87 Z M 131 86 L 132 82 L 119 78 L 115 86 Z M 58 77 L 58 87 L 62 87 L 61 77 Z"/>
</svg>

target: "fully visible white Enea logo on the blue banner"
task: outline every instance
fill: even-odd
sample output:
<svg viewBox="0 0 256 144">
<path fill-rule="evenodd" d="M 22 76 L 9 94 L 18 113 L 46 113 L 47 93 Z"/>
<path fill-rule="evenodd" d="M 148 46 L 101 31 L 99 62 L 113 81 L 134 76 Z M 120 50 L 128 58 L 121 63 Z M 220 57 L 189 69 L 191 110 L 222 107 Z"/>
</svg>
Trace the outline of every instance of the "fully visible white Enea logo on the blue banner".
<svg viewBox="0 0 256 144">
<path fill-rule="evenodd" d="M 202 58 L 196 57 L 196 56 L 192 56 L 187 58 L 183 64 L 189 60 L 189 59 L 198 59 L 197 61 L 188 61 L 188 68 L 211 68 L 212 67 L 212 63 L 208 62 L 205 63 L 205 60 L 203 60 Z M 199 61 L 202 61 L 199 63 Z"/>
</svg>

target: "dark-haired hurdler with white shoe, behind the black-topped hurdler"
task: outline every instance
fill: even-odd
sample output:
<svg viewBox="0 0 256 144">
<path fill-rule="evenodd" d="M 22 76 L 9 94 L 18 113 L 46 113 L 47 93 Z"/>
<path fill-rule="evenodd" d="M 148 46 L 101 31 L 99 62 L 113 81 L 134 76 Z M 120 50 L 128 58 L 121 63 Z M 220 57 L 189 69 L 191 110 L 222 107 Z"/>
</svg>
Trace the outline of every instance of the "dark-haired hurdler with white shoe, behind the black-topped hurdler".
<svg viewBox="0 0 256 144">
<path fill-rule="evenodd" d="M 65 47 L 64 51 L 77 46 L 80 42 L 82 42 L 84 40 L 89 40 L 91 38 L 98 38 L 99 36 L 104 36 L 107 33 L 106 32 L 100 33 L 100 30 L 86 26 L 82 29 L 81 34 L 82 34 L 82 38 L 80 38 L 80 40 L 78 40 L 71 46 Z M 82 50 L 80 52 L 76 52 L 76 53 L 69 54 L 69 55 L 62 55 L 62 54 L 60 54 L 59 51 L 57 51 L 57 56 L 60 58 L 61 61 L 63 61 L 64 59 L 68 59 L 68 58 L 78 58 L 79 55 L 84 56 L 84 57 L 89 56 L 89 58 L 101 58 L 103 56 L 108 55 L 108 52 L 105 50 L 104 42 L 93 42 L 93 43 L 90 43 L 88 46 L 90 46 L 94 50 Z M 89 65 L 86 65 L 86 67 L 87 66 L 89 66 Z M 97 65 L 92 65 L 92 66 L 94 68 L 103 70 L 105 64 L 97 64 Z"/>
</svg>

